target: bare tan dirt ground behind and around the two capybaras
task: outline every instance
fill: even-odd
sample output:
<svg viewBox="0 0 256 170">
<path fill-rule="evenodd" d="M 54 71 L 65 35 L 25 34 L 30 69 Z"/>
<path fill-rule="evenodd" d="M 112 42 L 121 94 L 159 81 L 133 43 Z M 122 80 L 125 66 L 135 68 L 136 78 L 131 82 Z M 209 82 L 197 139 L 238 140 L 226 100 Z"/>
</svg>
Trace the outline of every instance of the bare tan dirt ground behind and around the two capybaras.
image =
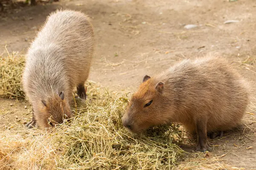
<svg viewBox="0 0 256 170">
<path fill-rule="evenodd" d="M 185 58 L 208 53 L 226 57 L 253 85 L 243 124 L 221 139 L 209 140 L 210 153 L 189 154 L 178 169 L 256 170 L 256 1 L 255 0 L 61 0 L 11 9 L 0 15 L 0 56 L 25 54 L 47 15 L 59 8 L 92 18 L 96 50 L 89 79 L 111 91 L 133 93 L 143 75 L 163 71 Z M 239 22 L 224 24 L 227 20 Z M 186 29 L 194 24 L 196 28 Z M 10 104 L 13 104 L 11 106 Z M 1 130 L 27 122 L 27 103 L 0 99 Z M 180 145 L 191 152 L 194 136 Z M 221 158 L 221 161 L 216 161 Z M 201 167 L 200 162 L 216 167 Z M 190 162 L 191 166 L 183 167 Z M 217 163 L 216 163 L 217 162 Z"/>
</svg>

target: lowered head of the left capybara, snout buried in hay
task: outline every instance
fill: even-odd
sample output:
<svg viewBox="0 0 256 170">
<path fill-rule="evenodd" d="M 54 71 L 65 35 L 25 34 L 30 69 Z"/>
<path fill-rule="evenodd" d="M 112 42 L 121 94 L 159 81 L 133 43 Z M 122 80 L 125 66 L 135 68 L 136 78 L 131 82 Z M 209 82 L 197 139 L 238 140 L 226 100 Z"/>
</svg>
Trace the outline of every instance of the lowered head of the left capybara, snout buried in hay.
<svg viewBox="0 0 256 170">
<path fill-rule="evenodd" d="M 37 122 L 39 127 L 55 127 L 65 119 L 69 121 L 73 116 L 69 104 L 64 99 L 64 92 L 42 99 L 41 105 Z"/>
</svg>

